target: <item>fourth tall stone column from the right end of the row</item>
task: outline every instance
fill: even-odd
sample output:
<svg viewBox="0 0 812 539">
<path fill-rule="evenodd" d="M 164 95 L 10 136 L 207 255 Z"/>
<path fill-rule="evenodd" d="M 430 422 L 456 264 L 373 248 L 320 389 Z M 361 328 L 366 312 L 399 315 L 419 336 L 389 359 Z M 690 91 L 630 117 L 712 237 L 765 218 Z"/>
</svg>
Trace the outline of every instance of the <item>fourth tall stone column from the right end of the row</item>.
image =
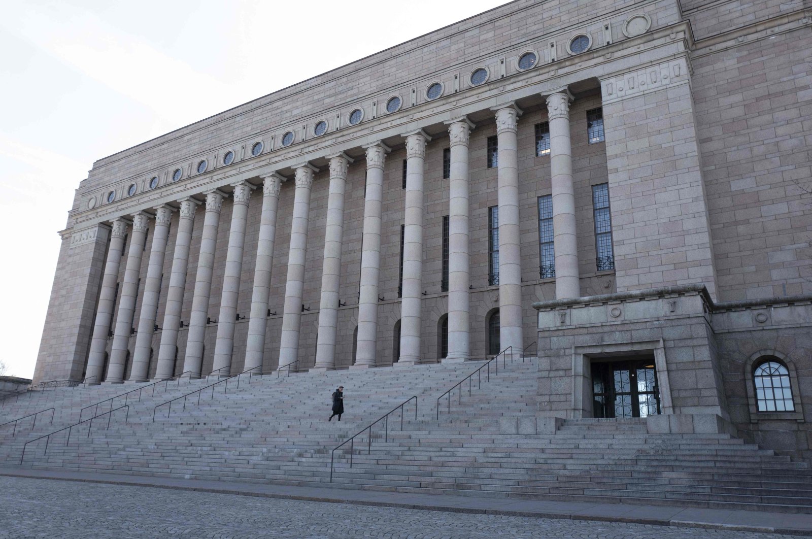
<svg viewBox="0 0 812 539">
<path fill-rule="evenodd" d="M 404 279 L 400 302 L 400 359 L 398 365 L 420 363 L 421 296 L 423 292 L 423 130 L 406 136 L 406 208 L 404 209 Z"/>
</svg>

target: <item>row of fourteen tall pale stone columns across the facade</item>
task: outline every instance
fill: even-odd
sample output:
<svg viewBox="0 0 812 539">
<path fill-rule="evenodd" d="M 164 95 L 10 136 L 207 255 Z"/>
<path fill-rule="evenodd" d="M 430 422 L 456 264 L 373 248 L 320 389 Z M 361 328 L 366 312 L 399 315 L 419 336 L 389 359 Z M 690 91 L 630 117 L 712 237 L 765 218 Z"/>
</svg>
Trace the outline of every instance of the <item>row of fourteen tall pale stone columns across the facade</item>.
<svg viewBox="0 0 812 539">
<path fill-rule="evenodd" d="M 566 89 L 547 97 L 550 119 L 552 204 L 556 297 L 580 295 L 578 284 L 578 253 L 575 234 L 575 200 L 572 188 L 572 151 L 569 136 L 569 102 L 572 95 Z M 516 144 L 517 123 L 521 110 L 514 103 L 493 109 L 498 136 L 499 192 L 499 313 L 500 343 L 520 353 L 523 345 L 520 268 L 519 175 Z M 446 122 L 451 145 L 451 177 L 449 179 L 449 281 L 448 281 L 448 353 L 447 361 L 469 360 L 470 318 L 470 253 L 469 253 L 469 135 L 475 125 L 466 117 Z M 421 295 L 424 226 L 425 146 L 431 137 L 422 130 L 404 134 L 406 145 L 406 193 L 404 208 L 404 265 L 401 301 L 400 361 L 417 364 L 421 361 Z M 363 236 L 361 244 L 361 285 L 357 311 L 356 362 L 353 368 L 366 369 L 378 364 L 378 293 L 381 266 L 381 224 L 383 170 L 391 150 L 381 141 L 364 147 L 366 161 L 366 190 Z M 339 308 L 339 282 L 344 221 L 344 197 L 347 173 L 352 158 L 345 153 L 327 157 L 330 162 L 330 185 L 327 205 L 322 290 L 319 308 L 316 360 L 314 369 L 335 369 L 336 327 Z M 279 369 L 297 369 L 304 290 L 304 262 L 309 230 L 310 199 L 313 175 L 318 170 L 309 162 L 296 166 L 296 191 L 292 208 L 290 248 L 287 261 L 287 282 L 283 308 L 282 332 L 279 339 Z M 274 261 L 274 237 L 279 213 L 279 192 L 282 176 L 271 174 L 262 178 L 262 210 L 253 274 L 253 292 L 248 320 L 245 369 L 261 368 L 266 343 L 270 277 Z M 230 372 L 234 349 L 237 295 L 240 289 L 246 216 L 253 189 L 251 183 L 231 185 L 234 209 L 227 247 L 227 261 L 222 284 L 218 315 L 217 338 L 214 347 L 213 372 Z M 225 192 L 212 189 L 205 195 L 205 218 L 201 247 L 197 261 L 192 312 L 189 318 L 183 372 L 201 376 L 205 328 L 209 322 L 209 297 L 212 287 L 214 256 Z M 181 306 L 186 287 L 188 258 L 196 205 L 191 197 L 178 201 L 179 225 L 166 312 L 162 321 L 161 343 L 155 377 L 171 377 L 178 350 Z M 161 270 L 166 252 L 169 222 L 174 211 L 161 205 L 154 216 L 147 212 L 132 214 L 132 222 L 117 218 L 112 223 L 112 235 L 107 256 L 102 291 L 93 328 L 88 360 L 88 377 L 102 379 L 106 358 L 106 342 L 112 333 L 113 343 L 106 379 L 122 382 L 127 362 L 127 345 L 132 332 L 133 313 L 138 293 L 139 271 L 144 252 L 149 219 L 155 219 L 153 243 L 145 278 L 144 299 L 136 337 L 130 379 L 145 381 L 148 377 L 150 344 L 157 327 L 158 294 Z M 114 314 L 116 280 L 122 259 L 123 239 L 132 223 L 121 298 L 114 331 L 110 332 Z"/>
</svg>

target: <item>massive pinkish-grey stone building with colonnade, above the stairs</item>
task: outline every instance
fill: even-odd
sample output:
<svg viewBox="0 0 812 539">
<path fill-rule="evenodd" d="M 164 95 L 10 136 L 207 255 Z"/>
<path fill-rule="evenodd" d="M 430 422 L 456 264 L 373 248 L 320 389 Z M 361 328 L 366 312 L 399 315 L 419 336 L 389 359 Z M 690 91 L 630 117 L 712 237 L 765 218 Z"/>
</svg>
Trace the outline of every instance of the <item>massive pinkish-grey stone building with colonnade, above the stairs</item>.
<svg viewBox="0 0 812 539">
<path fill-rule="evenodd" d="M 539 417 L 810 458 L 810 28 L 516 0 L 102 158 L 35 382 L 538 347 Z"/>
</svg>

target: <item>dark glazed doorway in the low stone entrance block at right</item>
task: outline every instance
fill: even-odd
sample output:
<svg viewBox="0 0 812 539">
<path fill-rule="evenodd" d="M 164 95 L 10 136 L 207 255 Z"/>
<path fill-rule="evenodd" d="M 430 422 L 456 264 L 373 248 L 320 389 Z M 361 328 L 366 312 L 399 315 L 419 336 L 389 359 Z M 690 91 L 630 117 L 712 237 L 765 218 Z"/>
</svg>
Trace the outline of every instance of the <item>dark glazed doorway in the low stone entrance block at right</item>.
<svg viewBox="0 0 812 539">
<path fill-rule="evenodd" d="M 592 361 L 593 417 L 661 413 L 657 369 L 650 360 Z"/>
</svg>

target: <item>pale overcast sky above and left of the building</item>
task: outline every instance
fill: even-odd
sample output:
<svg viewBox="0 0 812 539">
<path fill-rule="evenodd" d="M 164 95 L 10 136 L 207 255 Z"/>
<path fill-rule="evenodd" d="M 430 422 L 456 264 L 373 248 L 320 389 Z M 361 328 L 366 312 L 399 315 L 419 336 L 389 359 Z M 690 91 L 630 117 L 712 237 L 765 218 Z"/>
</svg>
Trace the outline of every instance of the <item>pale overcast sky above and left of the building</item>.
<svg viewBox="0 0 812 539">
<path fill-rule="evenodd" d="M 0 18 L 0 360 L 31 377 L 93 161 L 508 2 L 25 0 Z"/>
</svg>

